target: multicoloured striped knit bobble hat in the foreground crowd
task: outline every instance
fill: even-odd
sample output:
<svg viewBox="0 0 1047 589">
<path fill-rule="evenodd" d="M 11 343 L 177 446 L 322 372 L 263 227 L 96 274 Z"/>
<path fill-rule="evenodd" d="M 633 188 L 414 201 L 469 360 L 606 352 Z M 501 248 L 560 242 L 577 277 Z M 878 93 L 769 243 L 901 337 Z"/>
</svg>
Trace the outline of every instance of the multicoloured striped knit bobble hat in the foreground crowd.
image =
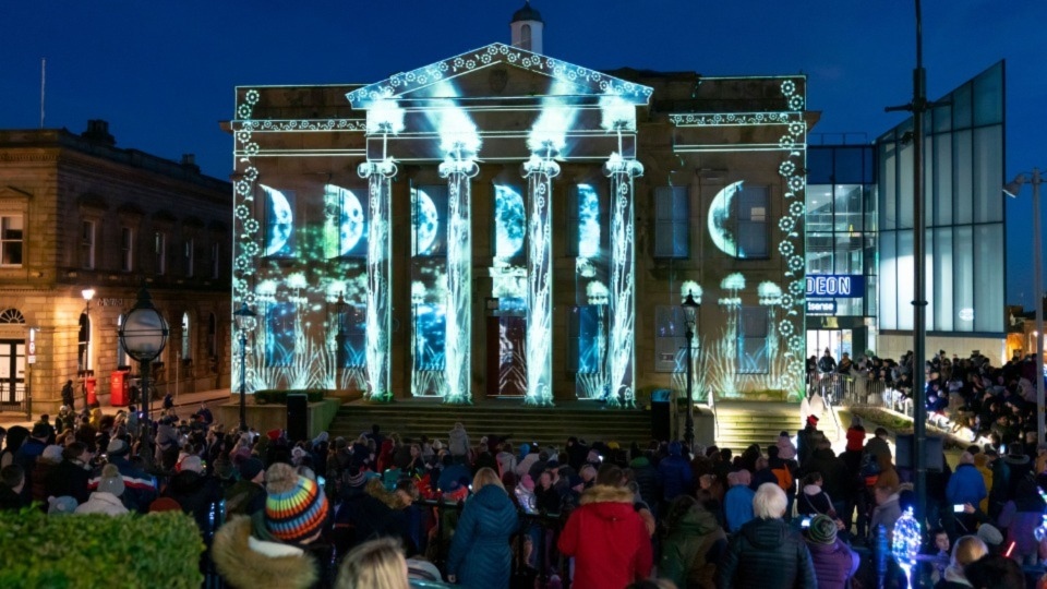
<svg viewBox="0 0 1047 589">
<path fill-rule="evenodd" d="M 327 498 L 315 481 L 277 462 L 265 471 L 265 529 L 284 542 L 304 542 L 327 519 Z"/>
</svg>

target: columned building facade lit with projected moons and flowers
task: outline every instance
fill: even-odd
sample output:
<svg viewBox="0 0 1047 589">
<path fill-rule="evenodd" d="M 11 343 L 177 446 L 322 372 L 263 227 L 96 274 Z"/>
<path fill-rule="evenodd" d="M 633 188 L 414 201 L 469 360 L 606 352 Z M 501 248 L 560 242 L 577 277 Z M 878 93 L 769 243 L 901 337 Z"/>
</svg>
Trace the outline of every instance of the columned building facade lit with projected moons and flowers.
<svg viewBox="0 0 1047 589">
<path fill-rule="evenodd" d="M 598 72 L 515 25 L 370 85 L 237 88 L 249 390 L 629 405 L 684 389 L 690 292 L 696 398 L 798 394 L 806 79 Z"/>
</svg>

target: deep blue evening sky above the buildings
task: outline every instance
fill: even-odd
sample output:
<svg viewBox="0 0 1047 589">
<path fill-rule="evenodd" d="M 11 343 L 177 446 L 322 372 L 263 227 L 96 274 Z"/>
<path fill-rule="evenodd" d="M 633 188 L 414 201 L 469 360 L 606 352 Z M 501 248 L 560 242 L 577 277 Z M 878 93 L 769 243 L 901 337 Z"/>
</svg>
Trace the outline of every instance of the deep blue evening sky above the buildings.
<svg viewBox="0 0 1047 589">
<path fill-rule="evenodd" d="M 84 130 L 106 119 L 121 147 L 232 169 L 237 85 L 371 83 L 493 41 L 509 40 L 522 0 L 44 0 L 0 4 L 0 128 Z M 1047 2 L 924 0 L 928 95 L 941 96 L 1007 60 L 1008 180 L 1047 168 Z M 587 68 L 803 72 L 813 133 L 872 141 L 905 115 L 915 62 L 904 0 L 537 0 L 544 52 Z M 861 137 L 862 135 L 857 135 Z M 1008 297 L 1032 304 L 1031 189 L 1008 202 Z"/>
</svg>

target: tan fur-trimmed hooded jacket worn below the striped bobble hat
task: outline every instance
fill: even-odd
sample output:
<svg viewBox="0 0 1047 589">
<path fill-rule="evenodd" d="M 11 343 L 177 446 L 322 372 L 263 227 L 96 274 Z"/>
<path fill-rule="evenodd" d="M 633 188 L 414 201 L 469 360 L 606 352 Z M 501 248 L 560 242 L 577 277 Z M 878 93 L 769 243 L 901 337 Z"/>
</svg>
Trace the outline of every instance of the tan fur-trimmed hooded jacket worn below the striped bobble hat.
<svg viewBox="0 0 1047 589">
<path fill-rule="evenodd" d="M 251 537 L 251 518 L 236 517 L 218 529 L 210 554 L 218 573 L 232 587 L 305 589 L 317 580 L 313 557 L 290 544 Z"/>
</svg>

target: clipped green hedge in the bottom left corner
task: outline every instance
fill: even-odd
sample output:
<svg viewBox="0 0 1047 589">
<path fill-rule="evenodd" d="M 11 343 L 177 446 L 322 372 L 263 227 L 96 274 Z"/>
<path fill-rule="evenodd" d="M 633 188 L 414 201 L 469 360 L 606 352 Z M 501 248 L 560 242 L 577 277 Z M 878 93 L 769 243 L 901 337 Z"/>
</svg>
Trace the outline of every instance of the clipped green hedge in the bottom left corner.
<svg viewBox="0 0 1047 589">
<path fill-rule="evenodd" d="M 181 512 L 48 516 L 0 512 L 0 587 L 197 589 L 204 543 Z"/>
</svg>

